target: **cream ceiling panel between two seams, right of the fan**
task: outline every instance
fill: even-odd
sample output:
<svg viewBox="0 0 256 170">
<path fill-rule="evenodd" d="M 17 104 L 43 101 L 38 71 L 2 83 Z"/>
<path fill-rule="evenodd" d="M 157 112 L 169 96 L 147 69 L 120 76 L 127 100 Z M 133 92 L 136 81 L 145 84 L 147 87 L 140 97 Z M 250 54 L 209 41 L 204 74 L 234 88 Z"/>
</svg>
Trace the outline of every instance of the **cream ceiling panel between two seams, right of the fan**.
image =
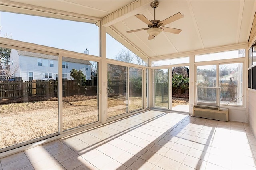
<svg viewBox="0 0 256 170">
<path fill-rule="evenodd" d="M 191 1 L 205 48 L 236 43 L 240 1 Z"/>
</svg>

